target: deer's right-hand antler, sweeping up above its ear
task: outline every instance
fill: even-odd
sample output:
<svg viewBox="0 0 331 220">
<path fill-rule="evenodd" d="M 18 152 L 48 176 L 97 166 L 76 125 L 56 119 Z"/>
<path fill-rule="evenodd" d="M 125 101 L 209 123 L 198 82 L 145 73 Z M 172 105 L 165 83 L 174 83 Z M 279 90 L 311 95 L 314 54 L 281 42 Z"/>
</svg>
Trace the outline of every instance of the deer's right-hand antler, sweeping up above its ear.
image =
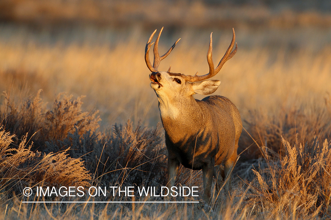
<svg viewBox="0 0 331 220">
<path fill-rule="evenodd" d="M 221 59 L 221 61 L 219 61 L 217 67 L 214 69 L 214 63 L 213 63 L 213 39 L 212 39 L 212 34 L 213 32 L 210 34 L 210 43 L 209 43 L 209 48 L 208 48 L 208 52 L 207 52 L 207 61 L 208 61 L 208 65 L 209 65 L 209 73 L 203 76 L 197 76 L 198 72 L 194 75 L 184 75 L 182 74 L 183 79 L 185 79 L 185 81 L 188 82 L 199 82 L 205 79 L 209 79 L 213 76 L 215 76 L 220 69 L 222 68 L 223 64 L 229 60 L 231 57 L 233 57 L 233 55 L 237 52 L 238 46 L 236 43 L 236 47 L 234 48 L 234 50 L 231 52 L 233 46 L 234 46 L 234 41 L 236 39 L 236 35 L 234 33 L 234 29 L 233 30 L 233 36 L 232 36 L 232 41 L 230 46 L 228 47 L 228 49 L 226 50 L 223 58 Z"/>
</svg>

